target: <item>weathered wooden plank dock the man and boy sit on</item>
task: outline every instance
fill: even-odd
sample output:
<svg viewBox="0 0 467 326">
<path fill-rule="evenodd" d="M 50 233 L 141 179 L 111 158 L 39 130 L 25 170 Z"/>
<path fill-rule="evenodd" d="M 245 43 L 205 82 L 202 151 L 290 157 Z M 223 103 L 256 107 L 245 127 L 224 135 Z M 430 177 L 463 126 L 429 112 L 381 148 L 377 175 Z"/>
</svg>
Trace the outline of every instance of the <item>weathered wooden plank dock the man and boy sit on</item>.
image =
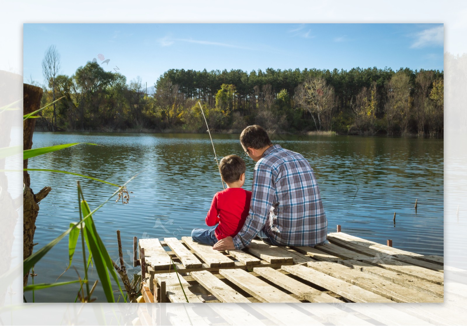
<svg viewBox="0 0 467 326">
<path fill-rule="evenodd" d="M 443 302 L 444 263 L 351 236 L 277 247 L 253 240 L 219 252 L 191 237 L 134 241 L 146 302 Z"/>
</svg>

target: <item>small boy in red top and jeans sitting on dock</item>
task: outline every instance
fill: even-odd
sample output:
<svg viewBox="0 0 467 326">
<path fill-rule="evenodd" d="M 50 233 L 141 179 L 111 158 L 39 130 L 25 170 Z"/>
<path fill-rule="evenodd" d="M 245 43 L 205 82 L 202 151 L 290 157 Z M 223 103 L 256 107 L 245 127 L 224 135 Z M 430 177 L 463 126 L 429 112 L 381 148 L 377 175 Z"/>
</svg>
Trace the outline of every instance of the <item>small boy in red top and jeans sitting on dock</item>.
<svg viewBox="0 0 467 326">
<path fill-rule="evenodd" d="M 219 191 L 212 199 L 211 208 L 206 216 L 206 225 L 211 229 L 191 231 L 193 241 L 214 245 L 226 236 L 236 236 L 250 209 L 251 191 L 242 188 L 245 182 L 245 161 L 237 155 L 228 155 L 220 160 L 219 170 L 227 188 Z"/>
</svg>

